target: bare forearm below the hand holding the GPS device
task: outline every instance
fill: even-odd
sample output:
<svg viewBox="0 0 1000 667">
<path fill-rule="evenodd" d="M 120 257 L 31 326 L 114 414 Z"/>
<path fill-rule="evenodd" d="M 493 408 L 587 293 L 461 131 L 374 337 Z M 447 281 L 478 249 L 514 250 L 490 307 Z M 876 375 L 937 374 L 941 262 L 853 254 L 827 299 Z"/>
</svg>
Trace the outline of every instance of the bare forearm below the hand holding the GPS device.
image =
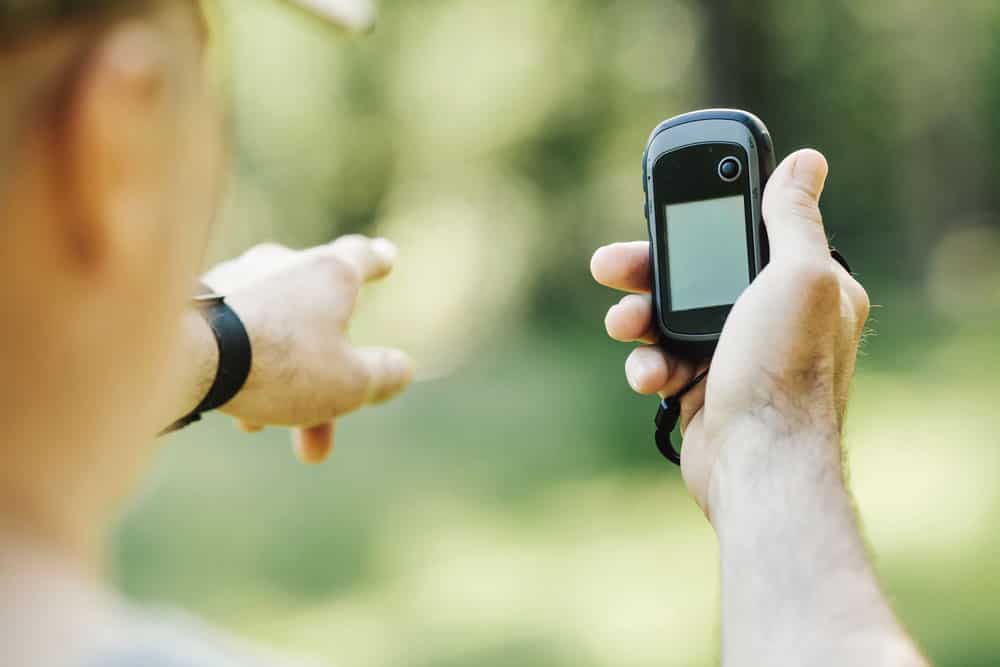
<svg viewBox="0 0 1000 667">
<path fill-rule="evenodd" d="M 720 460 L 726 667 L 926 664 L 868 562 L 835 437 L 758 436 Z"/>
</svg>

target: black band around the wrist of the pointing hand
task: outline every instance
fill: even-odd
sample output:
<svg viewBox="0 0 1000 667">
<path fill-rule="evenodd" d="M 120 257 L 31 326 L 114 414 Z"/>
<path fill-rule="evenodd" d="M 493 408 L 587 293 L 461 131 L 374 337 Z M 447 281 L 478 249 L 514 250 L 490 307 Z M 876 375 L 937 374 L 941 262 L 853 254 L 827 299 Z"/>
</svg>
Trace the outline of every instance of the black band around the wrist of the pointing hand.
<svg viewBox="0 0 1000 667">
<path fill-rule="evenodd" d="M 195 297 L 199 312 L 215 335 L 219 348 L 219 364 L 211 389 L 194 410 L 170 426 L 172 433 L 201 419 L 205 412 L 222 407 L 239 393 L 250 376 L 253 353 L 250 336 L 236 312 L 218 294 Z"/>
</svg>

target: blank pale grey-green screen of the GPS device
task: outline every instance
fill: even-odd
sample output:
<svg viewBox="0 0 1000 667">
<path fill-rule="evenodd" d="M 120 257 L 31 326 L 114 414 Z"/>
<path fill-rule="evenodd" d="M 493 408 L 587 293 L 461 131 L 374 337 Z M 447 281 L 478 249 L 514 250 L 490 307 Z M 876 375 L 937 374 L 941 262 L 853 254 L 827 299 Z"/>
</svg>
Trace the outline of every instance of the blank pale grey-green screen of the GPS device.
<svg viewBox="0 0 1000 667">
<path fill-rule="evenodd" d="M 743 196 L 668 204 L 670 310 L 734 303 L 750 284 Z"/>
</svg>

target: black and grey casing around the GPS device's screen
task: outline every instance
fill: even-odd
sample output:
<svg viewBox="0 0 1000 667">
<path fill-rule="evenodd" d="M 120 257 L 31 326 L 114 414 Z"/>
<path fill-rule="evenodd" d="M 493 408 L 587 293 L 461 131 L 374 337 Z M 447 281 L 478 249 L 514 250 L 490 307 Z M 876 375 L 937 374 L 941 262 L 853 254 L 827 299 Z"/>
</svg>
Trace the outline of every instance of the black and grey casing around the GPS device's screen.
<svg viewBox="0 0 1000 667">
<path fill-rule="evenodd" d="M 666 156 L 689 154 L 699 151 L 727 151 L 745 159 L 744 175 L 739 190 L 744 195 L 748 265 L 752 281 L 770 258 L 767 233 L 761 216 L 761 193 L 775 168 L 774 145 L 771 136 L 759 118 L 736 109 L 706 109 L 675 116 L 660 123 L 649 137 L 642 158 L 642 184 L 645 194 L 644 213 L 649 229 L 650 276 L 653 292 L 653 320 L 660 343 L 672 354 L 688 359 L 711 356 L 715 351 L 725 319 L 732 304 L 686 311 L 671 312 L 669 304 L 669 271 L 666 257 L 666 224 L 663 219 L 665 201 L 697 201 L 719 195 L 707 195 L 714 187 L 710 183 L 697 185 L 665 183 L 665 167 L 657 169 Z M 692 178 L 700 178 L 700 175 Z M 710 179 L 711 176 L 706 175 Z M 733 186 L 721 185 L 720 188 Z M 690 190 L 690 192 L 677 189 Z M 669 190 L 669 192 L 664 192 Z M 705 190 L 705 192 L 702 192 Z M 733 194 L 725 192 L 724 194 Z"/>
</svg>

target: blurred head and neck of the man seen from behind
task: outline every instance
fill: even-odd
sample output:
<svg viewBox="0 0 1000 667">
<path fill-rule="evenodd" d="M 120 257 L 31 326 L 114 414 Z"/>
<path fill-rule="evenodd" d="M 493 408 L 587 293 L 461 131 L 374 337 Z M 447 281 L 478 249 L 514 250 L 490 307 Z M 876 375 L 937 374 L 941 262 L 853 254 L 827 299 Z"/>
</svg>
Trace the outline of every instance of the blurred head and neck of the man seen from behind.
<svg viewBox="0 0 1000 667">
<path fill-rule="evenodd" d="M 179 416 L 158 411 L 224 181 L 205 43 L 196 0 L 0 0 L 2 515 L 103 511 Z"/>
</svg>

